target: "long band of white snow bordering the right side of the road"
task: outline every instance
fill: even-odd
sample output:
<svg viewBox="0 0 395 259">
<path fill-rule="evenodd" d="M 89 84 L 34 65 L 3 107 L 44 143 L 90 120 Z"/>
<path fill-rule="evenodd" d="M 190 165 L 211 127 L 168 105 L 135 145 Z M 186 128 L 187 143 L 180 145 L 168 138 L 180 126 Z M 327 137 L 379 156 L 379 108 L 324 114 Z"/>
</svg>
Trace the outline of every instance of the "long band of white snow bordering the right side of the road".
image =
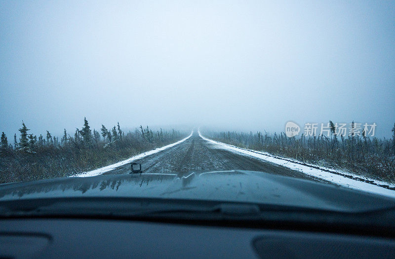
<svg viewBox="0 0 395 259">
<path fill-rule="evenodd" d="M 287 167 L 291 170 L 299 171 L 304 174 L 332 182 L 337 185 L 342 185 L 342 186 L 353 188 L 353 189 L 358 189 L 358 190 L 362 190 L 362 191 L 372 192 L 372 193 L 381 194 L 381 195 L 390 196 L 390 197 L 395 198 L 395 191 L 390 189 L 390 188 L 394 189 L 395 185 L 392 185 L 389 183 L 385 183 L 385 182 L 373 180 L 373 179 L 368 179 L 368 178 L 362 178 L 360 176 L 356 176 L 354 174 L 350 174 L 350 173 L 346 173 L 346 172 L 342 172 L 342 171 L 337 171 L 337 170 L 328 169 L 328 168 L 324 168 L 324 167 L 317 167 L 316 165 L 302 163 L 297 160 L 292 160 L 292 159 L 288 159 L 288 158 L 280 158 L 280 157 L 271 155 L 266 152 L 238 148 L 233 145 L 229 145 L 229 144 L 225 144 L 222 142 L 207 139 L 201 135 L 200 131 L 198 131 L 198 133 L 202 139 L 214 144 L 216 146 L 216 148 L 223 148 L 223 149 L 230 150 L 232 152 L 237 152 L 237 153 L 241 153 L 243 155 L 252 156 L 254 158 L 259 158 L 259 159 L 262 159 L 262 160 L 265 160 L 268 162 L 272 162 L 272 163 Z M 333 173 L 328 172 L 328 171 L 333 171 Z M 352 179 L 352 178 L 354 178 L 354 179 Z M 380 185 L 382 185 L 382 186 L 380 186 Z"/>
</svg>

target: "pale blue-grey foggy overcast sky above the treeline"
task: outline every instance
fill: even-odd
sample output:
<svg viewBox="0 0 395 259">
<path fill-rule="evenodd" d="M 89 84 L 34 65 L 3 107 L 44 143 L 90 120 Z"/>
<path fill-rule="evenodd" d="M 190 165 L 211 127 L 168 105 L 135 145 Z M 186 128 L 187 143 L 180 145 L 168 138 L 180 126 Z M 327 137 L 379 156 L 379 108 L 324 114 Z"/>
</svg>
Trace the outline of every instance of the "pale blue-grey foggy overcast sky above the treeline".
<svg viewBox="0 0 395 259">
<path fill-rule="evenodd" d="M 395 1 L 0 1 L 0 132 L 395 123 Z"/>
</svg>

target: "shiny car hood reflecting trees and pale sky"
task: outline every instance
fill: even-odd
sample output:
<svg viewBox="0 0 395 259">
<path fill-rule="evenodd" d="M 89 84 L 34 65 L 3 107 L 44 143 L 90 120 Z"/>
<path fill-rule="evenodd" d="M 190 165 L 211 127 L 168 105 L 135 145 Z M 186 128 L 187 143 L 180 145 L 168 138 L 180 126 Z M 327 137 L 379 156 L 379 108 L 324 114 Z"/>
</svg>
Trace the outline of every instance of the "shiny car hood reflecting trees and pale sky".
<svg viewBox="0 0 395 259">
<path fill-rule="evenodd" d="M 0 201 L 51 197 L 148 197 L 276 204 L 336 211 L 395 206 L 395 199 L 253 171 L 103 175 L 0 185 Z"/>
</svg>

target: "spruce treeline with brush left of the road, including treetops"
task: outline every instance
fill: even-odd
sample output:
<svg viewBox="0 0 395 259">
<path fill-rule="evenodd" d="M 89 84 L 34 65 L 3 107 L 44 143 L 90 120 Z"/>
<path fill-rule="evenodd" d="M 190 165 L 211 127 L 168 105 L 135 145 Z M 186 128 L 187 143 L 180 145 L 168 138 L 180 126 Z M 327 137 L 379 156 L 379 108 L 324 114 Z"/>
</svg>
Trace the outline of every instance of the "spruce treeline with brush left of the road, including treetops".
<svg viewBox="0 0 395 259">
<path fill-rule="evenodd" d="M 153 131 L 148 126 L 123 132 L 119 123 L 91 130 L 84 118 L 81 129 L 61 138 L 48 131 L 29 134 L 22 121 L 19 136 L 10 143 L 4 132 L 0 142 L 0 183 L 67 177 L 127 159 L 135 154 L 174 143 L 187 135 L 180 131 Z"/>
</svg>

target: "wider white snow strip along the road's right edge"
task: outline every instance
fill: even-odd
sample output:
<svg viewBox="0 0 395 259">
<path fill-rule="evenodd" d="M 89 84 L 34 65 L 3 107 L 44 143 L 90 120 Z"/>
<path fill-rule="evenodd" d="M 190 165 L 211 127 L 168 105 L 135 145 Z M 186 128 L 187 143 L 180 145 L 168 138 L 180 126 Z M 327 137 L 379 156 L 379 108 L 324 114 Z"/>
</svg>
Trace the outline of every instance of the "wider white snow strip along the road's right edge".
<svg viewBox="0 0 395 259">
<path fill-rule="evenodd" d="M 274 164 L 278 164 L 278 165 L 287 167 L 291 170 L 302 172 L 306 175 L 314 176 L 316 178 L 320 178 L 320 179 L 332 182 L 337 185 L 342 185 L 342 186 L 353 188 L 353 189 L 377 193 L 377 194 L 381 194 L 381 195 L 385 195 L 385 196 L 395 197 L 395 191 L 391 190 L 391 189 L 387 189 L 387 188 L 384 188 L 384 187 L 381 187 L 378 185 L 373 185 L 373 184 L 357 181 L 357 180 L 350 179 L 350 178 L 347 178 L 347 177 L 344 177 L 341 175 L 337 175 L 334 173 L 330 173 L 330 172 L 326 172 L 326 171 L 319 170 L 316 168 L 312 168 L 312 167 L 309 167 L 306 165 L 293 163 L 291 161 L 284 160 L 285 158 L 281 159 L 281 158 L 276 158 L 273 156 L 265 155 L 263 153 L 258 153 L 255 150 L 237 148 L 235 146 L 228 145 L 228 144 L 225 144 L 225 143 L 222 143 L 219 141 L 207 139 L 201 135 L 200 131 L 198 131 L 198 133 L 202 139 L 216 145 L 217 148 L 223 148 L 223 149 L 230 150 L 232 152 L 237 152 L 237 153 L 241 153 L 243 155 L 259 158 L 259 159 L 262 159 L 262 160 L 265 160 L 265 161 L 268 161 L 268 162 L 271 162 Z M 380 184 L 384 183 L 384 182 L 376 181 L 376 180 L 371 180 L 371 181 L 375 182 L 375 183 L 380 183 Z M 394 186 L 394 185 L 391 185 L 388 183 L 385 183 L 385 184 L 388 186 L 391 186 L 391 187 Z"/>
</svg>

